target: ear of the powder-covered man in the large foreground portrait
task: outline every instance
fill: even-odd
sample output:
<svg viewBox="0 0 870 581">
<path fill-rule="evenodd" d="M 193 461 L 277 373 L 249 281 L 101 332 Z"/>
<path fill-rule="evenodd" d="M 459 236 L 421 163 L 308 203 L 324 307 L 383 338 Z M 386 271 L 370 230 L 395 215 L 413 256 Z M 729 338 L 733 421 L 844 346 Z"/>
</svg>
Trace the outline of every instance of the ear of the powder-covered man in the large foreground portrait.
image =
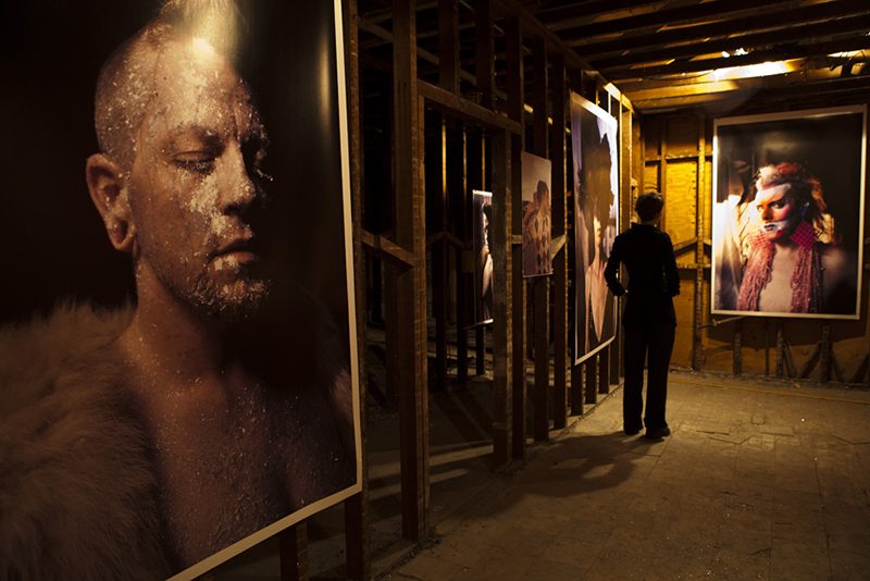
<svg viewBox="0 0 870 581">
<path fill-rule="evenodd" d="M 132 252 L 136 226 L 133 223 L 121 168 L 107 156 L 94 153 L 85 165 L 85 177 L 90 199 L 105 224 L 109 242 L 116 250 Z"/>
</svg>

